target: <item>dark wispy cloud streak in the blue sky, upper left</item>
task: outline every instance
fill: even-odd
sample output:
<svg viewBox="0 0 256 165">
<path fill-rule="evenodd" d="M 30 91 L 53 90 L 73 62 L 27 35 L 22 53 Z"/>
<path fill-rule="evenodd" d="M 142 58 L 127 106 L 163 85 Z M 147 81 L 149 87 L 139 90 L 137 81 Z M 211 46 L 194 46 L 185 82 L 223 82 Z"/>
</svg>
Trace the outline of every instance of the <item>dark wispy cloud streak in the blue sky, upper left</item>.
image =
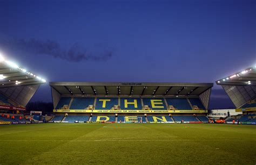
<svg viewBox="0 0 256 165">
<path fill-rule="evenodd" d="M 38 40 L 38 39 L 0 39 L 0 48 L 13 51 L 23 51 L 35 55 L 49 55 L 54 58 L 68 60 L 72 62 L 79 61 L 105 61 L 113 56 L 113 48 L 106 48 L 102 45 L 85 48 L 75 43 L 68 48 L 62 48 L 57 41 Z"/>
</svg>

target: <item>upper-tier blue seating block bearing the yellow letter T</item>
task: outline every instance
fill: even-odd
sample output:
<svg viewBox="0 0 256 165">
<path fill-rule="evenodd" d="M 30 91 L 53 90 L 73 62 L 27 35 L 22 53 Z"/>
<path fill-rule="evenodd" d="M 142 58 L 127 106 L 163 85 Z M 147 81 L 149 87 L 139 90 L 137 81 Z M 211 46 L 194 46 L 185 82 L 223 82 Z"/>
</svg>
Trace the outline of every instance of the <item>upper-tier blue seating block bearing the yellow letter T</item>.
<svg viewBox="0 0 256 165">
<path fill-rule="evenodd" d="M 105 105 L 104 105 L 105 103 Z M 114 105 L 118 105 L 117 97 L 99 97 L 97 98 L 96 110 L 111 110 Z"/>
</svg>

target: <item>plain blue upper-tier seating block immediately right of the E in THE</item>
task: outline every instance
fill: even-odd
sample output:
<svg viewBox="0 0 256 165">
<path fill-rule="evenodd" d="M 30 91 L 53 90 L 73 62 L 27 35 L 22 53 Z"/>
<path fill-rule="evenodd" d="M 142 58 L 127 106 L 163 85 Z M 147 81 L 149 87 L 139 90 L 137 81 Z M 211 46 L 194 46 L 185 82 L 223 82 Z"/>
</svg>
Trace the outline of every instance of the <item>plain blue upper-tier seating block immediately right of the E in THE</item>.
<svg viewBox="0 0 256 165">
<path fill-rule="evenodd" d="M 174 106 L 178 110 L 192 110 L 186 98 L 166 98 L 168 105 Z"/>
</svg>

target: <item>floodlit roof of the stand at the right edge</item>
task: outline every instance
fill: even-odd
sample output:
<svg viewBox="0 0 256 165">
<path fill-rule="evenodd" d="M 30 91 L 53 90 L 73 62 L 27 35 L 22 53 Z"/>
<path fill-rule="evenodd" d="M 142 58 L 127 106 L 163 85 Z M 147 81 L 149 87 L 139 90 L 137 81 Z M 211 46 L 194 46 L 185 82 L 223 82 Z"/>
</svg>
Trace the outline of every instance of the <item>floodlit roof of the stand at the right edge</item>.
<svg viewBox="0 0 256 165">
<path fill-rule="evenodd" d="M 216 81 L 239 108 L 256 98 L 256 66 L 234 73 Z"/>
</svg>

